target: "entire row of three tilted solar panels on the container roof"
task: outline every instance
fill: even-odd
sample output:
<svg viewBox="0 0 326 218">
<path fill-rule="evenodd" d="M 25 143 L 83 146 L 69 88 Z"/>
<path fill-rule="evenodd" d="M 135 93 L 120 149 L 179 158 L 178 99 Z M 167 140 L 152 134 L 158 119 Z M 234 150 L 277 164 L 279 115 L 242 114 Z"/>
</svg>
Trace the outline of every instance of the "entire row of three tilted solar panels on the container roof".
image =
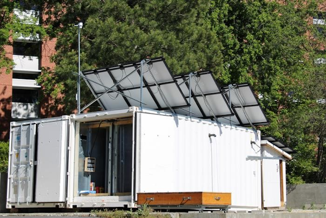
<svg viewBox="0 0 326 218">
<path fill-rule="evenodd" d="M 86 70 L 86 84 L 105 110 L 139 106 L 141 62 Z M 268 121 L 248 84 L 234 86 L 231 108 L 228 89 L 220 88 L 210 71 L 173 76 L 164 58 L 143 64 L 143 107 L 234 125 L 264 125 Z"/>
</svg>

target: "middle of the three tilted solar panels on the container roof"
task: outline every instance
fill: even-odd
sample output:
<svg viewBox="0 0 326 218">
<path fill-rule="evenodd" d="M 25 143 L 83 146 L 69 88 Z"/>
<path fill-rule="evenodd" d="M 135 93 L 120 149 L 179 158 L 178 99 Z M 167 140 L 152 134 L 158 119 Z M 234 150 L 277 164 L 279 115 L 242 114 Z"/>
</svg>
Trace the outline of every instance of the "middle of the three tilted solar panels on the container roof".
<svg viewBox="0 0 326 218">
<path fill-rule="evenodd" d="M 212 72 L 196 72 L 192 75 L 191 81 L 189 81 L 189 74 L 178 75 L 175 78 L 188 103 L 191 103 L 193 117 L 212 119 L 233 115 Z M 176 112 L 190 115 L 190 111 L 184 109 L 177 109 Z"/>
</svg>

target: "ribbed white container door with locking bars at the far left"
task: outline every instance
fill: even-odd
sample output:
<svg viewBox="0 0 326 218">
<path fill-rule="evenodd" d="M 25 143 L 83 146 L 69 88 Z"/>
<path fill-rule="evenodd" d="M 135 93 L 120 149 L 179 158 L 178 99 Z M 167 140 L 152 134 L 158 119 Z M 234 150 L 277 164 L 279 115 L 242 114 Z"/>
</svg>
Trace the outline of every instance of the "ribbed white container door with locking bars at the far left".
<svg viewBox="0 0 326 218">
<path fill-rule="evenodd" d="M 21 125 L 11 131 L 9 198 L 11 203 L 29 203 L 33 200 L 36 125 Z"/>
</svg>

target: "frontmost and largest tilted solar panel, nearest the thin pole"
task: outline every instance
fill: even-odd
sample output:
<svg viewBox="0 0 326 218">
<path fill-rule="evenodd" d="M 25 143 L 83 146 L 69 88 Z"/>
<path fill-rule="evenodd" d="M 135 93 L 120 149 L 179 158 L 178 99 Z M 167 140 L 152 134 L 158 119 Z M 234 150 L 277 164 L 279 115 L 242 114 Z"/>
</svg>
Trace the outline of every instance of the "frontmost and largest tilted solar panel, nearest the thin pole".
<svg viewBox="0 0 326 218">
<path fill-rule="evenodd" d="M 86 84 L 105 110 L 139 106 L 140 75 L 140 61 L 82 72 Z M 189 106 L 164 58 L 145 60 L 142 92 L 146 108 L 174 112 Z"/>
</svg>

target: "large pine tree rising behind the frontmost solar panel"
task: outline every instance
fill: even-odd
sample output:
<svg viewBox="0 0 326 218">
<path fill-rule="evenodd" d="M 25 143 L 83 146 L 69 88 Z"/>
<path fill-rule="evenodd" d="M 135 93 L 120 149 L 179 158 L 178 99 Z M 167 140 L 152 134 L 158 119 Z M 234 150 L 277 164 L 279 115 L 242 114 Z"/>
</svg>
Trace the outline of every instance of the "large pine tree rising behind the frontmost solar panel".
<svg viewBox="0 0 326 218">
<path fill-rule="evenodd" d="M 210 69 L 222 71 L 221 43 L 204 17 L 209 9 L 205 0 L 170 1 L 92 1 L 66 4 L 66 13 L 57 41 L 57 64 L 39 82 L 67 113 L 75 109 L 77 72 L 77 28 L 81 31 L 82 69 L 104 67 L 146 57 L 164 56 L 173 73 Z M 91 96 L 82 88 L 82 104 Z M 58 95 L 63 93 L 63 95 Z"/>
</svg>

